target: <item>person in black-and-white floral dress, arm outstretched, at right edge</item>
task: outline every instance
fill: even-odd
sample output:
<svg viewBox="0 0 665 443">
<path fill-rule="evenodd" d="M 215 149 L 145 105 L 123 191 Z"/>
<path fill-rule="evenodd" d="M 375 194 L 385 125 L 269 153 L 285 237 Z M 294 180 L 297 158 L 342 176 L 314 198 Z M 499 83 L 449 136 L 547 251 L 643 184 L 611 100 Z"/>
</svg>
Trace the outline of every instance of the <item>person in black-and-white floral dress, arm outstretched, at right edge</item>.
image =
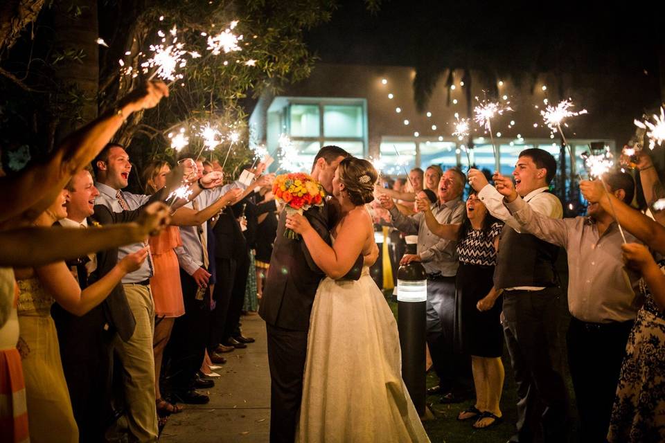
<svg viewBox="0 0 665 443">
<path fill-rule="evenodd" d="M 600 181 L 582 181 L 585 199 L 616 214 L 617 221 L 659 255 L 665 255 L 665 228 L 630 208 L 614 194 L 603 190 Z M 662 442 L 665 440 L 665 260 L 656 263 L 641 244 L 622 247 L 623 259 L 639 271 L 639 290 L 644 305 L 637 313 L 628 337 L 617 395 L 614 397 L 608 441 Z"/>
</svg>

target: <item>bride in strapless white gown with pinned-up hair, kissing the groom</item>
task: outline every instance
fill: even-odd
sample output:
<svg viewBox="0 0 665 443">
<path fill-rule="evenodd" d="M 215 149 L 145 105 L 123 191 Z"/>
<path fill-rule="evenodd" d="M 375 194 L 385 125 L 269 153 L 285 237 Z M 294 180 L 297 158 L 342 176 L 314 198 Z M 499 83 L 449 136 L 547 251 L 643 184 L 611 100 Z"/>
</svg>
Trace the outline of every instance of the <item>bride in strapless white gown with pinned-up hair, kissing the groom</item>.
<svg viewBox="0 0 665 443">
<path fill-rule="evenodd" d="M 369 161 L 348 157 L 332 179 L 341 210 L 332 247 L 303 215 L 286 227 L 303 237 L 328 275 L 314 298 L 298 442 L 429 442 L 402 381 L 397 324 L 369 269 L 360 280 L 335 280 L 374 242 L 371 216 L 377 173 Z M 423 374 L 424 376 L 424 374 Z"/>
</svg>

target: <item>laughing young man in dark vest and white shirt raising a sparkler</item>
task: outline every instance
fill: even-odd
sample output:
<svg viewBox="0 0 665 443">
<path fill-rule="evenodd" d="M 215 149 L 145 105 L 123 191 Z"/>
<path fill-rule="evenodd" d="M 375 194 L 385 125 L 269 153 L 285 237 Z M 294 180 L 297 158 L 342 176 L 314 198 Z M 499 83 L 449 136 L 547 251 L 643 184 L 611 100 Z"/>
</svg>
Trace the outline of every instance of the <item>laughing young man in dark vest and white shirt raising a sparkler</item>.
<svg viewBox="0 0 665 443">
<path fill-rule="evenodd" d="M 549 190 L 556 161 L 538 148 L 520 152 L 513 171 L 517 193 L 535 212 L 560 219 L 563 209 Z M 504 196 L 479 170 L 469 183 L 490 214 L 506 222 L 499 240 L 496 289 L 504 289 L 504 334 L 517 383 L 517 434 L 510 442 L 528 443 L 539 426 L 544 442 L 565 441 L 567 391 L 559 350 L 560 288 L 555 262 L 559 247 L 523 233 Z"/>
</svg>

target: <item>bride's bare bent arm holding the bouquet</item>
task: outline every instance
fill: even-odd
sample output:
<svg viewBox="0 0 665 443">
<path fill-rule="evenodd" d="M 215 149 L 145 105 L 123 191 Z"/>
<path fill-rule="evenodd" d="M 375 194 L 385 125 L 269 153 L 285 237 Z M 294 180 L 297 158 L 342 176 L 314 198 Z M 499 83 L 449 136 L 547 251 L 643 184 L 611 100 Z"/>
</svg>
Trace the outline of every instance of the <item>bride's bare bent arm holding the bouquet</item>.
<svg viewBox="0 0 665 443">
<path fill-rule="evenodd" d="M 303 237 L 305 246 L 321 271 L 333 279 L 342 278 L 355 264 L 367 237 L 366 229 L 358 226 L 371 226 L 371 219 L 366 211 L 351 211 L 346 215 L 344 226 L 331 247 L 323 241 L 308 219 L 300 214 L 288 215 L 286 227 Z"/>
</svg>

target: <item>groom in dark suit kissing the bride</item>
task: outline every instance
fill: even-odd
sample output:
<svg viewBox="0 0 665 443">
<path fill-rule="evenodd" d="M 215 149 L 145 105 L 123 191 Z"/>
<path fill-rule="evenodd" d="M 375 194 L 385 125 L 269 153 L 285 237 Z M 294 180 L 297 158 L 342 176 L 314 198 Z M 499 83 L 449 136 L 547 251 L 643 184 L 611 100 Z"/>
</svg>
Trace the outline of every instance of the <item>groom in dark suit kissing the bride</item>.
<svg viewBox="0 0 665 443">
<path fill-rule="evenodd" d="M 332 178 L 337 165 L 348 152 L 337 146 L 324 146 L 314 157 L 312 177 L 332 194 Z M 304 215 L 312 227 L 330 244 L 330 229 L 337 223 L 334 201 L 314 206 Z M 284 237 L 286 211 L 279 216 L 270 268 L 258 310 L 265 320 L 270 365 L 270 442 L 293 443 L 303 393 L 303 373 L 307 354 L 310 312 L 319 282 L 326 275 L 314 264 L 305 242 Z M 344 280 L 360 278 L 363 264 L 371 265 L 378 248 L 371 255 L 360 255 Z M 363 263 L 364 262 L 364 263 Z"/>
</svg>

